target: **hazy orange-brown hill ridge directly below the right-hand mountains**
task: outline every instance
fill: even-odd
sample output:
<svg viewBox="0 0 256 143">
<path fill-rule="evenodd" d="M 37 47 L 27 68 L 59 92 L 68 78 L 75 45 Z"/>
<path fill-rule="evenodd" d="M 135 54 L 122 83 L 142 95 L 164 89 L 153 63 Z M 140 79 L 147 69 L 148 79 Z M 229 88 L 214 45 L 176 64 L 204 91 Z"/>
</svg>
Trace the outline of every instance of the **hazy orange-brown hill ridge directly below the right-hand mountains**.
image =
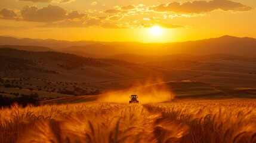
<svg viewBox="0 0 256 143">
<path fill-rule="evenodd" d="M 223 71 L 230 73 L 256 74 L 256 58 L 245 58 L 229 54 L 174 54 L 166 56 L 118 54 L 112 56 L 111 58 L 164 69 Z"/>
</svg>

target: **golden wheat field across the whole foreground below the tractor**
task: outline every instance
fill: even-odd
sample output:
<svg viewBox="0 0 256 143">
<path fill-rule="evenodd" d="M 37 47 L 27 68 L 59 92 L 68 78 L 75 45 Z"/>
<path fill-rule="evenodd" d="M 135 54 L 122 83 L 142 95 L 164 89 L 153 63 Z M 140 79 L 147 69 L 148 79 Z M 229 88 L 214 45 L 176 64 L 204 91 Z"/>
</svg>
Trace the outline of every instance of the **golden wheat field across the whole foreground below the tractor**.
<svg viewBox="0 0 256 143">
<path fill-rule="evenodd" d="M 256 142 L 255 100 L 85 102 L 0 110 L 0 142 Z"/>
</svg>

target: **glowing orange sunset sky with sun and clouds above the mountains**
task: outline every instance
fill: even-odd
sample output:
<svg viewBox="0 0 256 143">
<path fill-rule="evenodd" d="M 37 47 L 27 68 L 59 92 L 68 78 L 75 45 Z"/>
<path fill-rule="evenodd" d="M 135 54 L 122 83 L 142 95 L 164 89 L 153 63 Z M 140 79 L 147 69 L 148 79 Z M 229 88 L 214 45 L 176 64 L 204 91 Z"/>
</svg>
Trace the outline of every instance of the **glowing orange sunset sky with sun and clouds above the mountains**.
<svg viewBox="0 0 256 143">
<path fill-rule="evenodd" d="M 68 41 L 256 38 L 254 0 L 0 0 L 0 35 Z"/>
</svg>

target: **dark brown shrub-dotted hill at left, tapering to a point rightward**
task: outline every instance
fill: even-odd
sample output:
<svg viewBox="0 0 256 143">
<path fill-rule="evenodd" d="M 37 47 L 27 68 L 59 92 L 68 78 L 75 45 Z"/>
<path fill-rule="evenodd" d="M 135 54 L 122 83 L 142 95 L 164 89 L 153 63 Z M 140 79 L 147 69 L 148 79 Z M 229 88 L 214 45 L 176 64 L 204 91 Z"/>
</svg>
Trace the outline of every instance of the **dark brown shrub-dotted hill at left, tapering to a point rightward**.
<svg viewBox="0 0 256 143">
<path fill-rule="evenodd" d="M 97 82 L 144 77 L 156 72 L 122 60 L 87 58 L 61 52 L 0 48 L 1 77 L 47 77 L 51 80 Z"/>
</svg>

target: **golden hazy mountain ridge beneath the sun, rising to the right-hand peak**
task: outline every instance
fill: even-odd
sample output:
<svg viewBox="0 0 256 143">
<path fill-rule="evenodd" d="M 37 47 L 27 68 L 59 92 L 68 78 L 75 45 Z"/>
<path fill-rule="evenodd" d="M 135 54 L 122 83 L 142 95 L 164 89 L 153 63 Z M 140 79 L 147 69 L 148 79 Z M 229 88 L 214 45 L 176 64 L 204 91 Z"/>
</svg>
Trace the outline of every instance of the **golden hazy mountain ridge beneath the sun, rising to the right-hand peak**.
<svg viewBox="0 0 256 143">
<path fill-rule="evenodd" d="M 164 56 L 172 54 L 211 55 L 230 54 L 240 57 L 256 57 L 256 39 L 222 36 L 176 43 L 94 43 L 84 46 L 70 46 L 63 51 L 82 51 L 94 55 L 113 56 L 117 54 L 139 54 L 146 56 Z"/>
</svg>

